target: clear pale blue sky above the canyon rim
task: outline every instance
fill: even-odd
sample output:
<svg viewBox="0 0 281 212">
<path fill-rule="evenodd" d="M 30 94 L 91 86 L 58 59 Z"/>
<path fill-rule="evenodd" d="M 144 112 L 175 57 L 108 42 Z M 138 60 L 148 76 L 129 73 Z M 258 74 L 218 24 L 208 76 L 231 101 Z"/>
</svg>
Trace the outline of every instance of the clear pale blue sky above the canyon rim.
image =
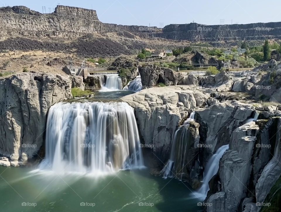
<svg viewBox="0 0 281 212">
<path fill-rule="evenodd" d="M 42 6 L 55 8 L 57 4 L 97 11 L 104 23 L 158 26 L 161 23 L 196 23 L 215 25 L 281 21 L 281 1 L 265 0 L 0 0 L 0 6 L 24 5 L 42 13 Z"/>
</svg>

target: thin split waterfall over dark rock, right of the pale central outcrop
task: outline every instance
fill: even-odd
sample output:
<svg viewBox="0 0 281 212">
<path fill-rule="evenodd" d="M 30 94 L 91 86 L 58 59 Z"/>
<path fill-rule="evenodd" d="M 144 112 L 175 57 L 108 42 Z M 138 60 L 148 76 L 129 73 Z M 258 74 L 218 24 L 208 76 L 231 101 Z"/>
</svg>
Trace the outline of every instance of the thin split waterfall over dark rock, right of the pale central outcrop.
<svg viewBox="0 0 281 212">
<path fill-rule="evenodd" d="M 184 121 L 183 125 L 181 125 L 174 134 L 173 142 L 172 142 L 172 150 L 170 154 L 170 159 L 162 169 L 161 173 L 163 177 L 166 179 L 167 177 L 174 177 L 175 173 L 173 169 L 175 168 L 175 161 L 179 161 L 179 170 L 185 166 L 185 157 L 186 157 L 186 135 L 188 132 L 189 124 L 191 121 L 194 121 L 195 112 L 192 112 L 186 121 Z M 176 149 L 176 146 L 180 146 L 180 148 Z M 179 160 L 177 160 L 177 157 Z"/>
</svg>

